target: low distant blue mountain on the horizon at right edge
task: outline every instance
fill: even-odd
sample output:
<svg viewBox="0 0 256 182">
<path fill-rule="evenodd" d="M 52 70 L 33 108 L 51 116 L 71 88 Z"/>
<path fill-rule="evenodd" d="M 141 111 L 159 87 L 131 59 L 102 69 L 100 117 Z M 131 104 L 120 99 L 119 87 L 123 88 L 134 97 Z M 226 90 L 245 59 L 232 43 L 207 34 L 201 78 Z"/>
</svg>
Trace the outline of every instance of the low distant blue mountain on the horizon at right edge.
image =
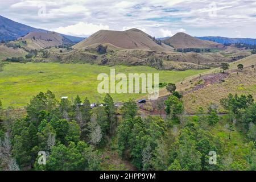
<svg viewBox="0 0 256 182">
<path fill-rule="evenodd" d="M 249 38 L 224 38 L 221 36 L 203 36 L 203 37 L 196 37 L 196 38 L 201 40 L 210 40 L 210 41 L 221 43 L 221 44 L 243 43 L 243 44 L 256 45 L 256 39 L 249 39 Z"/>
</svg>

